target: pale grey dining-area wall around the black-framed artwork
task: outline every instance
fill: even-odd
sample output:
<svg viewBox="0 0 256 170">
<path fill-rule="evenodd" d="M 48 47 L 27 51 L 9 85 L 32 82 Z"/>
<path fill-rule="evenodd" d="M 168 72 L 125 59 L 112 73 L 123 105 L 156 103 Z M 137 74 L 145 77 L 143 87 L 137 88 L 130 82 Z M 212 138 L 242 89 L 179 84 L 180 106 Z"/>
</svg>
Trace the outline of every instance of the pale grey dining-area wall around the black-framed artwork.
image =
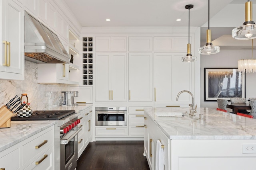
<svg viewBox="0 0 256 170">
<path fill-rule="evenodd" d="M 254 50 L 256 56 L 256 51 Z M 228 68 L 237 67 L 239 59 L 251 59 L 251 50 L 222 50 L 214 55 L 201 55 L 200 63 L 200 98 L 201 107 L 217 108 L 217 102 L 204 102 L 204 68 Z M 256 57 L 253 57 L 254 59 Z M 246 74 L 246 98 L 256 97 L 256 73 Z"/>
</svg>

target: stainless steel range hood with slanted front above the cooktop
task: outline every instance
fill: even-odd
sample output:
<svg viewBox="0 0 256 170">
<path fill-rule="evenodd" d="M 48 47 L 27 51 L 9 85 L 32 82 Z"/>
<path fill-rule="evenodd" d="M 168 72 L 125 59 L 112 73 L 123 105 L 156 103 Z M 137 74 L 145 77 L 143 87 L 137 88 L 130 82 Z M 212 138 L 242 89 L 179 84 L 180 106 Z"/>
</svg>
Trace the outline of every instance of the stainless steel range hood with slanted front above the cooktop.
<svg viewBox="0 0 256 170">
<path fill-rule="evenodd" d="M 35 63 L 70 63 L 58 36 L 25 12 L 25 59 Z"/>
</svg>

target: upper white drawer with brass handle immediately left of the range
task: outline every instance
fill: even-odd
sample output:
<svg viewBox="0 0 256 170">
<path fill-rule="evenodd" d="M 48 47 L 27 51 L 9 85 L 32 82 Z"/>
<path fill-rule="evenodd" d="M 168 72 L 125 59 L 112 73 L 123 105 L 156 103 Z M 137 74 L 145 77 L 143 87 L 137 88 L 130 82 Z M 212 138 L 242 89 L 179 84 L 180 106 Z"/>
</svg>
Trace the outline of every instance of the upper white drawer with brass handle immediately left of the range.
<svg viewBox="0 0 256 170">
<path fill-rule="evenodd" d="M 30 141 L 26 145 L 23 145 L 22 146 L 22 165 L 24 165 L 26 162 L 28 162 L 31 158 L 33 158 L 40 152 L 47 149 L 48 146 L 53 145 L 53 140 L 54 140 L 54 131 L 53 129 L 51 129 L 50 131 L 42 133 L 36 139 Z M 39 148 L 36 149 L 36 146 L 38 146 Z"/>
</svg>

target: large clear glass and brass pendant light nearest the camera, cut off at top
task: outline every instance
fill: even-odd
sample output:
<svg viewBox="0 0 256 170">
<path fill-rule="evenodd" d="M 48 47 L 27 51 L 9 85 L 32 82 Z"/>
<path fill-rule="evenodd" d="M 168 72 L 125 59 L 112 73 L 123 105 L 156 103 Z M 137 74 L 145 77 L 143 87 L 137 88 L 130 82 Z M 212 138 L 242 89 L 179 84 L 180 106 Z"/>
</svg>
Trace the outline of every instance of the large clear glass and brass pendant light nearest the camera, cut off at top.
<svg viewBox="0 0 256 170">
<path fill-rule="evenodd" d="M 253 39 L 256 38 L 255 23 L 252 21 L 252 2 L 248 0 L 245 3 L 245 22 L 243 26 L 236 27 L 232 30 L 234 39 Z"/>
</svg>

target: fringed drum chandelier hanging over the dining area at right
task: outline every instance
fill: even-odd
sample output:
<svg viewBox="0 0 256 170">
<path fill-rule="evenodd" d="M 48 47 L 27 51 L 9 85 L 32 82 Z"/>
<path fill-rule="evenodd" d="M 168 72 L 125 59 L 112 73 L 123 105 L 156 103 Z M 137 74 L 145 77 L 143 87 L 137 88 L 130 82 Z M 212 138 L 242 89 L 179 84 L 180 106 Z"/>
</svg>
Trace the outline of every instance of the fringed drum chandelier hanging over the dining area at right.
<svg viewBox="0 0 256 170">
<path fill-rule="evenodd" d="M 253 39 L 252 39 L 252 52 L 253 52 Z M 252 55 L 253 56 L 253 55 Z M 256 72 L 256 59 L 241 59 L 238 60 L 238 71 L 246 73 Z"/>
</svg>

